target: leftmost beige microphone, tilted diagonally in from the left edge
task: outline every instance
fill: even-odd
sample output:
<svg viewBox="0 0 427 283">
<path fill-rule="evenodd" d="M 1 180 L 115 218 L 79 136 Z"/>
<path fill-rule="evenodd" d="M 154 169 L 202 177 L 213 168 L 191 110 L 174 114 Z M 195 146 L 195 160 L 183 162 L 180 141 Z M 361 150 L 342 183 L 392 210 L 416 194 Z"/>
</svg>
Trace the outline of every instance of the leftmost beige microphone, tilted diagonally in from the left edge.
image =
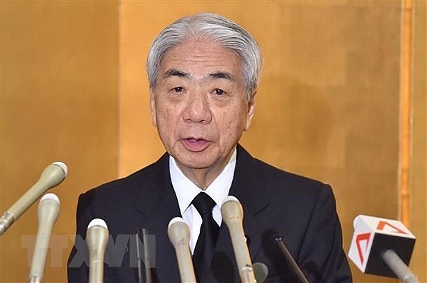
<svg viewBox="0 0 427 283">
<path fill-rule="evenodd" d="M 46 167 L 39 180 L 17 200 L 0 218 L 0 235 L 15 222 L 45 191 L 56 187 L 67 176 L 67 165 L 60 161 L 54 162 Z"/>
</svg>

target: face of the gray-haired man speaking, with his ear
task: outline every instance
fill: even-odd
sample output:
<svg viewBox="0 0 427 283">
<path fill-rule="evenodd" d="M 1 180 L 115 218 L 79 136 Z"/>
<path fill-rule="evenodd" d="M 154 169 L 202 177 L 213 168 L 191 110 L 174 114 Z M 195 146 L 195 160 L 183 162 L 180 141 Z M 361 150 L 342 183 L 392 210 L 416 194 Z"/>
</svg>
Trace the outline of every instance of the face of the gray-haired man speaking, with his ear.
<svg viewBox="0 0 427 283">
<path fill-rule="evenodd" d="M 153 123 L 183 171 L 222 170 L 255 110 L 238 56 L 208 40 L 168 50 L 151 97 Z"/>
</svg>

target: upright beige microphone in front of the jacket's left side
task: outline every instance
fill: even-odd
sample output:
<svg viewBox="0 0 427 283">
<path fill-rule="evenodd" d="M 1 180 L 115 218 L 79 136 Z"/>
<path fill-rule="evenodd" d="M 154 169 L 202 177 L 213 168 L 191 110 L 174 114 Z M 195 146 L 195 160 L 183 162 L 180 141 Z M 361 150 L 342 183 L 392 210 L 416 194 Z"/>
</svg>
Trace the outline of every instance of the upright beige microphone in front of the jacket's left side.
<svg viewBox="0 0 427 283">
<path fill-rule="evenodd" d="M 107 224 L 101 218 L 95 218 L 86 230 L 89 248 L 89 282 L 104 282 L 104 255 L 108 242 Z"/>
</svg>

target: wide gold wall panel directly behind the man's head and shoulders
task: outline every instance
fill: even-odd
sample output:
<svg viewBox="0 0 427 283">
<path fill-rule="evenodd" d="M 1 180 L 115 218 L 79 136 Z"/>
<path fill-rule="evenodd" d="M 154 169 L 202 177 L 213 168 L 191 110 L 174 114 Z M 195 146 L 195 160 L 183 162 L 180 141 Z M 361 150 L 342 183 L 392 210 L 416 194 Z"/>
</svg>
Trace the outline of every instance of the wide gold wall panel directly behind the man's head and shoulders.
<svg viewBox="0 0 427 283">
<path fill-rule="evenodd" d="M 123 1 L 119 174 L 164 151 L 149 115 L 149 44 L 201 11 L 242 24 L 263 50 L 256 116 L 242 138 L 253 156 L 333 185 L 346 250 L 358 214 L 397 218 L 398 1 Z M 355 282 L 395 282 L 351 266 Z"/>
</svg>

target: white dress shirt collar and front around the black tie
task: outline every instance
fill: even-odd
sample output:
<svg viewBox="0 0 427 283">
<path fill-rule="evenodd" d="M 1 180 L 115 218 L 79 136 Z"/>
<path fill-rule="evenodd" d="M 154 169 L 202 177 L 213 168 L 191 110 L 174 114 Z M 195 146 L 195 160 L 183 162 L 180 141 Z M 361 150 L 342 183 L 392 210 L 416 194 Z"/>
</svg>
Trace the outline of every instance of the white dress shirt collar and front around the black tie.
<svg viewBox="0 0 427 283">
<path fill-rule="evenodd" d="M 213 207 L 212 216 L 216 223 L 218 223 L 219 227 L 222 222 L 220 205 L 222 204 L 222 200 L 229 195 L 231 182 L 233 182 L 234 169 L 236 168 L 236 156 L 237 150 L 234 149 L 229 163 L 227 163 L 220 175 L 216 177 L 211 185 L 209 185 L 209 187 L 204 191 L 213 199 L 214 202 L 216 202 L 215 207 Z M 197 187 L 194 182 L 191 182 L 191 180 L 183 174 L 183 172 L 178 168 L 178 165 L 176 165 L 176 161 L 172 156 L 169 156 L 169 172 L 176 198 L 178 198 L 181 216 L 183 216 L 183 220 L 190 228 L 191 235 L 189 244 L 191 253 L 193 253 L 200 233 L 202 217 L 198 213 L 196 207 L 191 205 L 191 202 L 196 198 L 198 193 L 203 190 Z"/>
</svg>

